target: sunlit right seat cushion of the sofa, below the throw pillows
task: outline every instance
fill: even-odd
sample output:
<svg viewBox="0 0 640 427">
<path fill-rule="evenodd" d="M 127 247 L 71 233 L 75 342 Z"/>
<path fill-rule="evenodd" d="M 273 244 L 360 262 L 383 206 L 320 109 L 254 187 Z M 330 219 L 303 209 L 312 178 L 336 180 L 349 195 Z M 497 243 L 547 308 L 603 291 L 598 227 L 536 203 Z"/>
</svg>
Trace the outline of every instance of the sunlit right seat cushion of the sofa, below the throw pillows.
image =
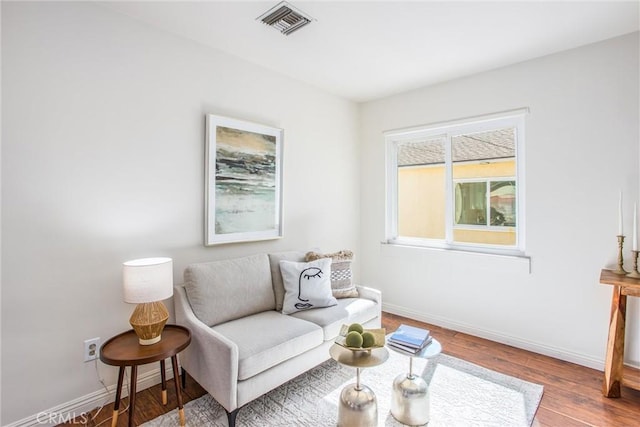
<svg viewBox="0 0 640 427">
<path fill-rule="evenodd" d="M 365 323 L 378 316 L 378 304 L 365 298 L 341 298 L 338 305 L 314 308 L 290 314 L 290 317 L 304 319 L 322 328 L 325 341 L 334 340 L 343 324 Z"/>
</svg>

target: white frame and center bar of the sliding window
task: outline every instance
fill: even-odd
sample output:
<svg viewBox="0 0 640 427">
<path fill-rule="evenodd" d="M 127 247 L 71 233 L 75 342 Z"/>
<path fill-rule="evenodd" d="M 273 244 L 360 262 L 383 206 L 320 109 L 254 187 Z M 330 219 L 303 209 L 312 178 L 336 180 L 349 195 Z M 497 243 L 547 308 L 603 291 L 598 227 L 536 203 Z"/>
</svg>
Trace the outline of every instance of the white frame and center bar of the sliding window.
<svg viewBox="0 0 640 427">
<path fill-rule="evenodd" d="M 525 116 L 528 108 L 502 113 L 471 117 L 425 126 L 384 132 L 386 145 L 386 225 L 385 242 L 389 244 L 422 246 L 483 252 L 500 255 L 523 256 L 525 254 Z M 454 229 L 454 180 L 451 162 L 451 139 L 453 136 L 491 131 L 505 127 L 515 129 L 516 152 L 516 244 L 513 246 L 463 243 L 453 240 Z M 428 239 L 398 235 L 398 145 L 416 139 L 444 139 L 445 151 L 445 238 Z M 499 179 L 501 179 L 500 177 Z M 505 178 L 506 179 L 506 178 Z M 483 227 L 484 228 L 484 227 Z M 497 229 L 500 227 L 492 227 Z M 490 229 L 486 227 L 486 229 Z"/>
</svg>

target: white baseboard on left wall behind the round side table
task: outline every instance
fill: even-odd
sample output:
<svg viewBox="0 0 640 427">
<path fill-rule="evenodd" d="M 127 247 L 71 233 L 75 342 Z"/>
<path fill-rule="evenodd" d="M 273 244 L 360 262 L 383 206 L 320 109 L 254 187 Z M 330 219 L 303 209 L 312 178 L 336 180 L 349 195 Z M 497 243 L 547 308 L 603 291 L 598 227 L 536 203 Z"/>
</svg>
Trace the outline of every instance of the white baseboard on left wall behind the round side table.
<svg viewBox="0 0 640 427">
<path fill-rule="evenodd" d="M 173 370 L 170 369 L 170 363 L 168 363 L 167 365 L 168 369 L 165 370 L 167 381 L 169 381 L 170 379 L 173 379 Z M 129 375 L 128 372 L 129 371 L 127 370 L 127 375 Z M 138 380 L 136 382 L 136 391 L 141 391 L 149 387 L 153 387 L 156 384 L 160 384 L 160 381 L 161 377 L 159 367 L 140 374 L 138 375 Z M 171 387 L 171 384 L 167 384 L 167 386 Z M 77 399 L 71 400 L 53 408 L 45 409 L 38 412 L 37 414 L 33 414 L 11 424 L 7 424 L 4 427 L 56 426 L 58 424 L 70 422 L 74 418 L 82 420 L 83 415 L 87 412 L 112 403 L 116 396 L 116 388 L 117 385 L 113 384 L 107 387 L 107 390 L 102 388 L 93 393 L 86 394 Z M 125 381 L 122 386 L 122 398 L 128 395 L 129 390 L 127 387 L 127 381 Z M 120 408 L 120 410 L 122 409 L 124 409 L 124 407 Z M 129 415 L 127 414 L 126 416 Z"/>
</svg>

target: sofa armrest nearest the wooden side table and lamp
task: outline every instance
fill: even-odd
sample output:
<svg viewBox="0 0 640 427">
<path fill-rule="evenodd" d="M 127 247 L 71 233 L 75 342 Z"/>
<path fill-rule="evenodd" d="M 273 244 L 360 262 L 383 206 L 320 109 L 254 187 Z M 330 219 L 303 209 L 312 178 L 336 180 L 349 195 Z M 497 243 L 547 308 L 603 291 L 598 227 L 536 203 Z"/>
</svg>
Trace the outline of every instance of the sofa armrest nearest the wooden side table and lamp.
<svg viewBox="0 0 640 427">
<path fill-rule="evenodd" d="M 182 367 L 227 411 L 237 408 L 238 346 L 196 317 L 184 286 L 175 286 L 176 323 L 191 331 L 191 344 L 181 354 Z"/>
</svg>

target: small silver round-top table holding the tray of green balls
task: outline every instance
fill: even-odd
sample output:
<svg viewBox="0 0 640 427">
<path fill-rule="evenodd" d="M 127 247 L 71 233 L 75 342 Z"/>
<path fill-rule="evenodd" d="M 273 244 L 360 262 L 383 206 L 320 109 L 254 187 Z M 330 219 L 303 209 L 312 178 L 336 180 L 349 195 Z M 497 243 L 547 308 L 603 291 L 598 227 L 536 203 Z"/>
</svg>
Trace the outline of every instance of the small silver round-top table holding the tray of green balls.
<svg viewBox="0 0 640 427">
<path fill-rule="evenodd" d="M 356 368 L 356 383 L 349 384 L 340 393 L 338 426 L 370 427 L 378 424 L 378 403 L 376 395 L 360 382 L 360 369 L 378 366 L 389 358 L 384 347 L 371 350 L 352 351 L 339 344 L 329 348 L 329 354 L 336 362 Z"/>
</svg>

